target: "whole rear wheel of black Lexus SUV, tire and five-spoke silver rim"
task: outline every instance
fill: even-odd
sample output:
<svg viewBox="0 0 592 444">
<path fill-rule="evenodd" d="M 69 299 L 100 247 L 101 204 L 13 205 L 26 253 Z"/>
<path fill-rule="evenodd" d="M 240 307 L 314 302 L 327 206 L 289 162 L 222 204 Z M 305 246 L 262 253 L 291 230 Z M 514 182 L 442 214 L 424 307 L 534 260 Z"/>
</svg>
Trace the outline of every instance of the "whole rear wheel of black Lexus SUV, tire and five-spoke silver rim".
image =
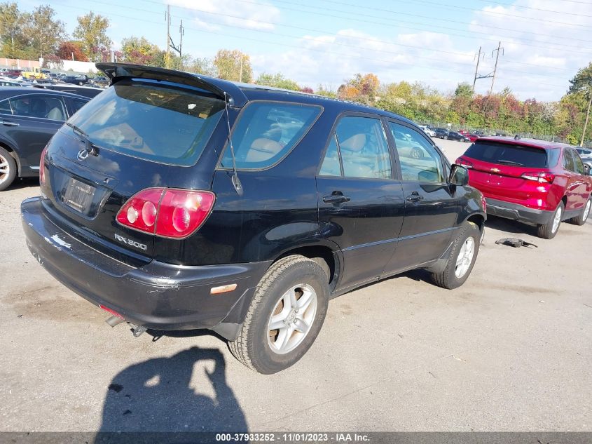
<svg viewBox="0 0 592 444">
<path fill-rule="evenodd" d="M 296 301 L 308 296 L 309 303 L 301 314 L 294 309 L 287 311 L 287 304 L 294 304 L 287 295 L 294 295 Z M 328 304 L 329 285 L 322 267 L 300 255 L 284 257 L 259 281 L 245 322 L 235 341 L 228 342 L 228 348 L 235 358 L 256 372 L 270 375 L 284 370 L 302 358 L 315 342 Z M 286 326 L 270 330 L 273 317 L 277 318 L 275 323 Z M 297 325 L 308 326 L 307 332 L 299 331 Z M 287 340 L 283 341 L 284 338 Z"/>
</svg>

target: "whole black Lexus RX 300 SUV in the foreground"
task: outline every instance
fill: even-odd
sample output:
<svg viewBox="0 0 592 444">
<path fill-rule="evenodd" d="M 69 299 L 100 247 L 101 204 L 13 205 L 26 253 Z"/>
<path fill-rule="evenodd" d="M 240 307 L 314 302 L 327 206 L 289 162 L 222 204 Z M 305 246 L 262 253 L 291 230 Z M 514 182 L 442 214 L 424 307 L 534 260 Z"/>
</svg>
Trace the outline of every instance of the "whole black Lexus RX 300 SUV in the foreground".
<svg viewBox="0 0 592 444">
<path fill-rule="evenodd" d="M 469 276 L 481 193 L 411 121 L 97 67 L 113 85 L 53 137 L 41 196 L 21 209 L 29 250 L 109 323 L 125 319 L 135 335 L 214 330 L 249 368 L 273 373 L 305 354 L 331 297 L 410 269 L 445 288 Z M 398 153 L 397 131 L 421 159 Z"/>
</svg>

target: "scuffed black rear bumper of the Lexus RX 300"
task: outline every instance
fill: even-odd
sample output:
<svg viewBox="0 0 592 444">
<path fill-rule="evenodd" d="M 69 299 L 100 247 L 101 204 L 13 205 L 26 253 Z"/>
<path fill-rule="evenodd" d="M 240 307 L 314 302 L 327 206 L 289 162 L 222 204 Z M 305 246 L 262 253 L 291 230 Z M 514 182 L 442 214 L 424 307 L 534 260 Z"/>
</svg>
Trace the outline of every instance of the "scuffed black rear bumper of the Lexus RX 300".
<svg viewBox="0 0 592 444">
<path fill-rule="evenodd" d="M 131 267 L 67 234 L 45 215 L 40 198 L 21 204 L 27 246 L 58 281 L 126 321 L 155 330 L 208 328 L 233 338 L 269 262 L 184 266 L 152 261 Z M 232 292 L 212 287 L 236 283 Z"/>
</svg>

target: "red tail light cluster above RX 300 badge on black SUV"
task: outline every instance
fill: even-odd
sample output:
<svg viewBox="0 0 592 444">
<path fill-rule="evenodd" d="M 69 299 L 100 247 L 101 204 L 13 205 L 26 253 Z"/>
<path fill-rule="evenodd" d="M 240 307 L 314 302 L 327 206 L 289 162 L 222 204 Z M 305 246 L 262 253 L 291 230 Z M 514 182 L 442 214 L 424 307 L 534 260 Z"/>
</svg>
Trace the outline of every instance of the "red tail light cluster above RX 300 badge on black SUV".
<svg viewBox="0 0 592 444">
<path fill-rule="evenodd" d="M 132 196 L 117 213 L 125 227 L 168 238 L 193 234 L 214 208 L 212 191 L 148 188 Z"/>
</svg>

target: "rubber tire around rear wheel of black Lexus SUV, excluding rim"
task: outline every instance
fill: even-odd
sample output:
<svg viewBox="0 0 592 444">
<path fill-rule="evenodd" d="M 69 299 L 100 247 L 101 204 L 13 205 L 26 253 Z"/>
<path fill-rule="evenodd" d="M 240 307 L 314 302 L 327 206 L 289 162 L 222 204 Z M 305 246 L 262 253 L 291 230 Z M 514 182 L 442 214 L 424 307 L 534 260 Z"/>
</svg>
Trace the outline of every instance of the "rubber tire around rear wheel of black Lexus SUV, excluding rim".
<svg viewBox="0 0 592 444">
<path fill-rule="evenodd" d="M 273 337 L 268 329 L 272 315 L 278 314 L 278 304 L 291 288 L 308 285 L 317 297 L 314 318 L 310 330 L 296 348 L 285 354 L 272 350 Z M 298 290 L 296 290 L 298 294 Z M 315 342 L 323 325 L 329 303 L 329 285 L 325 271 L 314 260 L 301 255 L 284 257 L 273 264 L 255 289 L 245 322 L 235 341 L 228 342 L 228 348 L 240 362 L 256 372 L 269 375 L 294 365 Z M 283 311 L 283 310 L 282 310 Z M 296 312 L 297 313 L 297 312 Z M 280 313 L 281 314 L 281 313 Z M 279 335 L 279 330 L 277 330 Z M 291 334 L 293 335 L 293 334 Z"/>
</svg>

